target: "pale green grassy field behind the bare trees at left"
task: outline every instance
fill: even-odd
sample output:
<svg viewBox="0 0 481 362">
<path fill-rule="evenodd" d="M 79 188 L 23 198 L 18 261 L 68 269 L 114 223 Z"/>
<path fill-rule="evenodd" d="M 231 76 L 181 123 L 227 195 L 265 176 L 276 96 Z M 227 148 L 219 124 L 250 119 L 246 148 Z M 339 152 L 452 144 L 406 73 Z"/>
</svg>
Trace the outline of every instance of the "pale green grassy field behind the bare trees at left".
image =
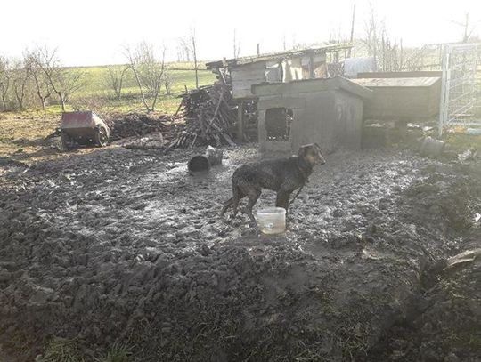
<svg viewBox="0 0 481 362">
<path fill-rule="evenodd" d="M 67 101 L 67 109 L 94 109 L 99 113 L 102 112 L 131 112 L 145 111 L 141 94 L 135 76 L 131 69 L 125 65 L 114 66 L 96 66 L 96 67 L 77 67 L 64 68 L 69 72 L 70 76 L 80 75 L 79 89 L 69 96 Z M 199 85 L 212 84 L 216 77 L 211 71 L 205 68 L 203 63 L 199 64 Z M 122 88 L 120 97 L 116 95 L 111 86 L 111 74 L 115 74 L 117 79 L 122 77 Z M 17 76 L 12 74 L 12 76 Z M 170 86 L 167 92 L 166 84 Z M 11 82 L 12 85 L 12 82 Z M 185 92 L 186 89 L 195 88 L 195 71 L 191 62 L 171 62 L 166 64 L 166 72 L 164 74 L 162 85 L 157 101 L 156 111 L 160 113 L 174 113 L 179 105 L 178 95 Z M 4 109 L 19 109 L 16 96 L 13 93 L 13 86 L 10 86 L 7 94 L 7 106 Z M 52 92 L 52 90 L 51 90 Z M 144 93 L 147 91 L 144 87 Z M 147 99 L 149 103 L 151 100 Z M 23 112 L 7 112 L 10 116 L 30 116 L 41 109 L 41 103 L 38 101 L 37 93 L 34 88 L 33 81 L 30 79 L 28 88 L 23 98 Z M 58 116 L 61 112 L 58 97 L 52 93 L 46 100 L 45 111 L 39 112 L 44 116 Z M 2 107 L 0 107 L 0 111 Z"/>
</svg>

